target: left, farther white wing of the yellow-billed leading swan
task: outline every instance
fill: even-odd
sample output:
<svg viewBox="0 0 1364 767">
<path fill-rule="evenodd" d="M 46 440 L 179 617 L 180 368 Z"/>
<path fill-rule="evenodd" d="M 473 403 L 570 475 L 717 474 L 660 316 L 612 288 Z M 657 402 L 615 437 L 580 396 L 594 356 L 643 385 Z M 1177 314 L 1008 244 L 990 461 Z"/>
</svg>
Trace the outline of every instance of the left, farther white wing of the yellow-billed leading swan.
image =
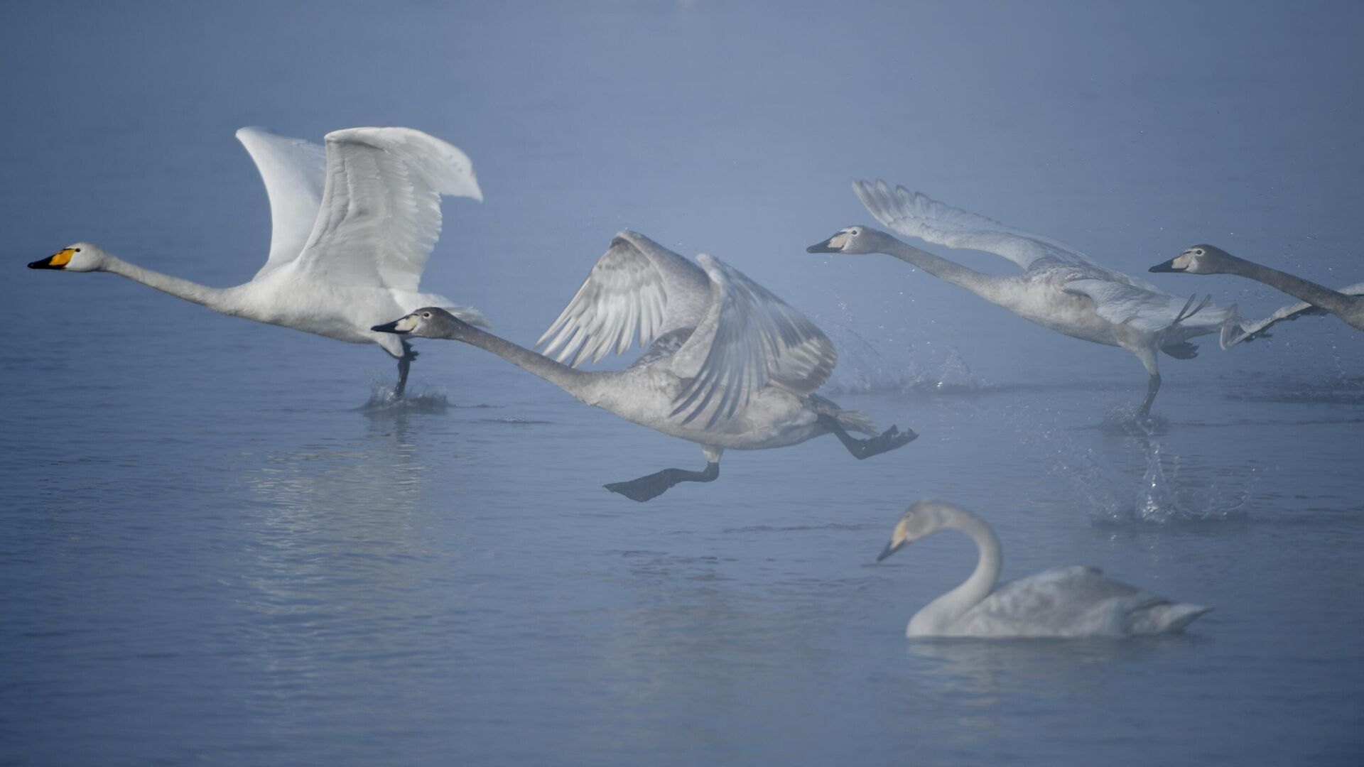
<svg viewBox="0 0 1364 767">
<path fill-rule="evenodd" d="M 256 272 L 259 278 L 303 252 L 322 207 L 327 153 L 301 138 L 281 136 L 255 127 L 239 130 L 237 141 L 255 161 L 270 198 L 270 258 Z"/>
</svg>

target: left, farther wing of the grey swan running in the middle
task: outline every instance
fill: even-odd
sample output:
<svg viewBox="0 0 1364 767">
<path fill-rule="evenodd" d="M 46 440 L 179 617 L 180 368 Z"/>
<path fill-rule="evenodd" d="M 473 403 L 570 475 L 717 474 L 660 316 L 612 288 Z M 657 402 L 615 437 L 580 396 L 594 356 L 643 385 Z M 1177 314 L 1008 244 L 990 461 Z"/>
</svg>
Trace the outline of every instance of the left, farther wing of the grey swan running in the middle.
<svg viewBox="0 0 1364 767">
<path fill-rule="evenodd" d="M 682 328 L 696 328 L 709 302 L 705 273 L 659 243 L 623 231 L 597 259 L 573 300 L 535 345 L 573 367 L 615 349 L 640 345 Z"/>
</svg>

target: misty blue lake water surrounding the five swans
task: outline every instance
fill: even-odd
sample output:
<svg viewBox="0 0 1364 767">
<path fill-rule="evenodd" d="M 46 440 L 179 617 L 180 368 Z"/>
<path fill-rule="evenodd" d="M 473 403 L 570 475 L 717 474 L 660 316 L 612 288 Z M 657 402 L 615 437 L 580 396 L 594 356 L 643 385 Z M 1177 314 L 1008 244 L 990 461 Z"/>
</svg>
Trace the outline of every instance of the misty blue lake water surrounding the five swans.
<svg viewBox="0 0 1364 767">
<path fill-rule="evenodd" d="M 803 252 L 866 218 L 857 173 L 1133 273 L 1211 240 L 1357 281 L 1360 11 L 788 8 L 0 10 L 0 763 L 1360 763 L 1364 336 L 1206 343 L 1131 429 L 1127 352 Z M 366 408 L 374 347 L 23 269 L 89 239 L 250 278 L 243 124 L 466 150 L 487 202 L 446 202 L 423 285 L 512 340 L 630 227 L 817 318 L 829 394 L 921 437 L 731 452 L 638 505 L 600 486 L 700 450 L 479 349 L 426 341 L 419 404 Z M 955 535 L 873 564 L 923 497 L 981 513 L 1007 579 L 1090 564 L 1214 611 L 910 643 L 974 564 Z"/>
</svg>

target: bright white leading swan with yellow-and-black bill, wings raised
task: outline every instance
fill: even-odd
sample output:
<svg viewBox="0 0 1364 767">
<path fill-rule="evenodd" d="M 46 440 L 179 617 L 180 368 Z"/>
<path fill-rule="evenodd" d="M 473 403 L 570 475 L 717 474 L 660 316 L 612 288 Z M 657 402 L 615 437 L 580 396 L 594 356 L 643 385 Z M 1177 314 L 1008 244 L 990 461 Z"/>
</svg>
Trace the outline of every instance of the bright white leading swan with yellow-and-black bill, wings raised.
<svg viewBox="0 0 1364 767">
<path fill-rule="evenodd" d="M 270 197 L 270 257 L 250 283 L 209 288 L 75 243 L 30 269 L 112 272 L 214 311 L 379 344 L 398 360 L 401 396 L 412 347 L 370 330 L 419 306 L 445 306 L 466 322 L 483 315 L 417 289 L 441 235 L 441 195 L 483 199 L 469 158 L 412 128 L 348 128 L 326 135 L 326 150 L 262 128 L 241 128 Z"/>
</svg>

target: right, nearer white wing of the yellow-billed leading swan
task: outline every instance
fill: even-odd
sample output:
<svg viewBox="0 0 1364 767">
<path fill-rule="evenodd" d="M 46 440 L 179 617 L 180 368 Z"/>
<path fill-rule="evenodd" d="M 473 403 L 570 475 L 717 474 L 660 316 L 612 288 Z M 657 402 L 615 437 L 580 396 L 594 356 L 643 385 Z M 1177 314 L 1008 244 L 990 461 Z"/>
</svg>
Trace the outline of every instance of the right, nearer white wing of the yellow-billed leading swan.
<svg viewBox="0 0 1364 767">
<path fill-rule="evenodd" d="M 483 199 L 457 147 L 412 128 L 327 134 L 327 182 L 299 267 L 342 285 L 416 291 L 436 237 L 441 195 Z"/>
</svg>

